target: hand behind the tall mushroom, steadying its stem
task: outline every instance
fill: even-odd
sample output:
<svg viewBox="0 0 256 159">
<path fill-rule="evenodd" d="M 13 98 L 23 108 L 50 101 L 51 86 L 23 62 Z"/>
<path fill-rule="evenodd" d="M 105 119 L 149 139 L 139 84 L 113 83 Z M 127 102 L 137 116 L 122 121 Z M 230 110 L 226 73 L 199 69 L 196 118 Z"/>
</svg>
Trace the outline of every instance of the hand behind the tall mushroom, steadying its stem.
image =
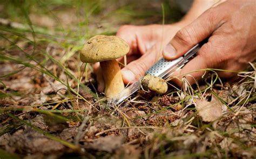
<svg viewBox="0 0 256 159">
<path fill-rule="evenodd" d="M 128 64 L 122 69 L 124 83 L 136 81 L 160 57 L 163 57 L 161 53 L 164 46 L 184 25 L 185 21 L 172 25 L 124 25 L 120 27 L 117 36 L 124 39 L 130 46 L 130 52 L 126 55 Z M 98 63 L 94 65 L 94 69 L 97 75 L 98 91 L 103 91 L 104 79 Z"/>
</svg>

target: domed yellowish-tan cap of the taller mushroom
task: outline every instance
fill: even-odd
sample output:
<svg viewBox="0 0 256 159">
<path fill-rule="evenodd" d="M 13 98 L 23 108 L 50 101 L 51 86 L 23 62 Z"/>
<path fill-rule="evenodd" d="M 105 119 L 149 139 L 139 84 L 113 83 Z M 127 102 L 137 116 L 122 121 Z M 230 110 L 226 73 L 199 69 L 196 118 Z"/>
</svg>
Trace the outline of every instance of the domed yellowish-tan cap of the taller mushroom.
<svg viewBox="0 0 256 159">
<path fill-rule="evenodd" d="M 86 63 L 118 59 L 129 52 L 129 45 L 117 36 L 96 35 L 87 41 L 80 53 Z"/>
</svg>

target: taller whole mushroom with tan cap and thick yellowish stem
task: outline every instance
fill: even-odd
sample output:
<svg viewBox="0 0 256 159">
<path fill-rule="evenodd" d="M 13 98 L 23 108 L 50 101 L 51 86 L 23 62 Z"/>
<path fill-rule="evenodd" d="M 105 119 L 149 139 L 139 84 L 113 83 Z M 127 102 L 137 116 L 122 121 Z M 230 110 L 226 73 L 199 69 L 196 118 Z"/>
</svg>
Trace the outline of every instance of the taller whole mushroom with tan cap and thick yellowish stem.
<svg viewBox="0 0 256 159">
<path fill-rule="evenodd" d="M 124 89 L 121 70 L 116 59 L 126 55 L 129 50 L 129 45 L 123 39 L 106 35 L 92 37 L 81 50 L 82 62 L 100 62 L 106 97 L 113 98 Z"/>
</svg>

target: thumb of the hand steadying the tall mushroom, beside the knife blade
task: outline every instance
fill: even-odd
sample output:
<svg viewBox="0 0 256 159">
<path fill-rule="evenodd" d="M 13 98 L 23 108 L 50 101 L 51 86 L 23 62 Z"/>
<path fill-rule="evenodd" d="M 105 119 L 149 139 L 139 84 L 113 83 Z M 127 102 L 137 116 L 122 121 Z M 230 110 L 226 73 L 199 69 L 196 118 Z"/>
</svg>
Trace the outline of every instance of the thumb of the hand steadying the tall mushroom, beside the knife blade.
<svg viewBox="0 0 256 159">
<path fill-rule="evenodd" d="M 130 62 L 122 69 L 122 76 L 125 84 L 133 83 L 139 77 L 144 76 L 146 70 L 156 63 L 159 59 L 159 54 L 156 53 L 155 49 L 156 47 L 151 48 L 149 53 L 146 53 L 139 59 Z"/>
</svg>

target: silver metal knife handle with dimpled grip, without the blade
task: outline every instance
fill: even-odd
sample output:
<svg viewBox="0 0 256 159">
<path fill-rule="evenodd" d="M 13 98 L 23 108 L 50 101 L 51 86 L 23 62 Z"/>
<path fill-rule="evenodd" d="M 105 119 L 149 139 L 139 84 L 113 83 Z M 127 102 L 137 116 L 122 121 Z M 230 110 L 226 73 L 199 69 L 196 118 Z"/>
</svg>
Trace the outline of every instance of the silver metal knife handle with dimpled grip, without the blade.
<svg viewBox="0 0 256 159">
<path fill-rule="evenodd" d="M 196 54 L 200 47 L 200 44 L 195 45 L 183 56 L 175 60 L 165 60 L 164 57 L 161 58 L 156 64 L 146 71 L 145 75 L 150 74 L 161 78 L 167 78 L 170 73 L 182 67 L 188 61 L 188 59 L 190 59 L 190 57 Z"/>
</svg>

